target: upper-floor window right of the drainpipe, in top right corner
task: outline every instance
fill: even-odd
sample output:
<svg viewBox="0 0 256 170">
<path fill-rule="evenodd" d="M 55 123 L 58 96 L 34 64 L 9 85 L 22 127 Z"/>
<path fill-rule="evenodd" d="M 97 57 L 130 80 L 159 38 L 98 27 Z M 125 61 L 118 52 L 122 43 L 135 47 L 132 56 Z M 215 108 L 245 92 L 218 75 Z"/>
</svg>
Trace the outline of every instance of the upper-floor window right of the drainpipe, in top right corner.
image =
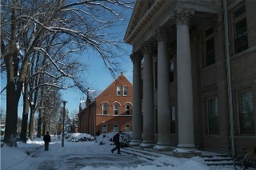
<svg viewBox="0 0 256 170">
<path fill-rule="evenodd" d="M 234 53 L 248 49 L 246 6 L 234 11 Z"/>
</svg>

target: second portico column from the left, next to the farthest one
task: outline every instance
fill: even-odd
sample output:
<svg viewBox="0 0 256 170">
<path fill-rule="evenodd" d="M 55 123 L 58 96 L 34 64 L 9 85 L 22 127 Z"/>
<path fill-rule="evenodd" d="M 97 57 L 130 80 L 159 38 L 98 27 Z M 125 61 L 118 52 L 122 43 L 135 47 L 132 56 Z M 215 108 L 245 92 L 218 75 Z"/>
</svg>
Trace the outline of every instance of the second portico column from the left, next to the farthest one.
<svg viewBox="0 0 256 170">
<path fill-rule="evenodd" d="M 143 141 L 142 148 L 154 147 L 154 86 L 153 86 L 153 45 L 143 46 Z"/>
</svg>

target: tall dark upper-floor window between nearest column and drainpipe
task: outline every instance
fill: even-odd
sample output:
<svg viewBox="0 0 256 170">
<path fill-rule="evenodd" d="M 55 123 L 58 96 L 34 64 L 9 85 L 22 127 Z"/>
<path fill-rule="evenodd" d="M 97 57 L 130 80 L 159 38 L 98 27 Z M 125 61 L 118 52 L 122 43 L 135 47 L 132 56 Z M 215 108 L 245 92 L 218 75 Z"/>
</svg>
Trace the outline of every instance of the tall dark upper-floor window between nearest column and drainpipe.
<svg viewBox="0 0 256 170">
<path fill-rule="evenodd" d="M 206 66 L 215 63 L 215 53 L 214 53 L 214 27 L 210 27 L 205 31 L 206 38 Z"/>
</svg>

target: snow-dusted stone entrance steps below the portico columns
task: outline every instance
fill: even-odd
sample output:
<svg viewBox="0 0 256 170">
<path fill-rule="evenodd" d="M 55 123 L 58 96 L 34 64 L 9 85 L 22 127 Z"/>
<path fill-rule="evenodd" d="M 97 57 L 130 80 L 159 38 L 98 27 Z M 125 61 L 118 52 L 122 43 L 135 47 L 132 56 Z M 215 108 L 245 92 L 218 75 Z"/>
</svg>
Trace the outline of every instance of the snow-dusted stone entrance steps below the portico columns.
<svg viewBox="0 0 256 170">
<path fill-rule="evenodd" d="M 133 148 L 122 148 L 122 152 L 125 152 L 129 155 L 140 156 L 146 160 L 154 161 L 156 158 L 161 156 L 172 156 L 172 151 L 166 152 L 154 152 L 153 148 L 144 148 L 143 150 L 138 147 Z M 206 152 L 202 151 L 202 159 L 204 163 L 208 166 L 233 166 L 233 158 L 227 154 L 221 154 L 216 152 Z M 162 160 L 163 161 L 163 160 Z M 162 162 L 165 165 L 172 165 L 168 161 Z"/>
</svg>

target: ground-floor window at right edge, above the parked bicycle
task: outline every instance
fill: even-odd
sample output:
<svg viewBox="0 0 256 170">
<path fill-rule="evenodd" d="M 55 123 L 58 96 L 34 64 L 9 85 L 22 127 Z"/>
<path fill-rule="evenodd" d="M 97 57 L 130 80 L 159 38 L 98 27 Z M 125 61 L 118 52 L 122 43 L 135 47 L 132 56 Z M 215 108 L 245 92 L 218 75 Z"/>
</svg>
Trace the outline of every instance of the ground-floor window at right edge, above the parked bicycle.
<svg viewBox="0 0 256 170">
<path fill-rule="evenodd" d="M 254 134 L 254 109 L 252 93 L 238 93 L 240 134 Z"/>
</svg>

